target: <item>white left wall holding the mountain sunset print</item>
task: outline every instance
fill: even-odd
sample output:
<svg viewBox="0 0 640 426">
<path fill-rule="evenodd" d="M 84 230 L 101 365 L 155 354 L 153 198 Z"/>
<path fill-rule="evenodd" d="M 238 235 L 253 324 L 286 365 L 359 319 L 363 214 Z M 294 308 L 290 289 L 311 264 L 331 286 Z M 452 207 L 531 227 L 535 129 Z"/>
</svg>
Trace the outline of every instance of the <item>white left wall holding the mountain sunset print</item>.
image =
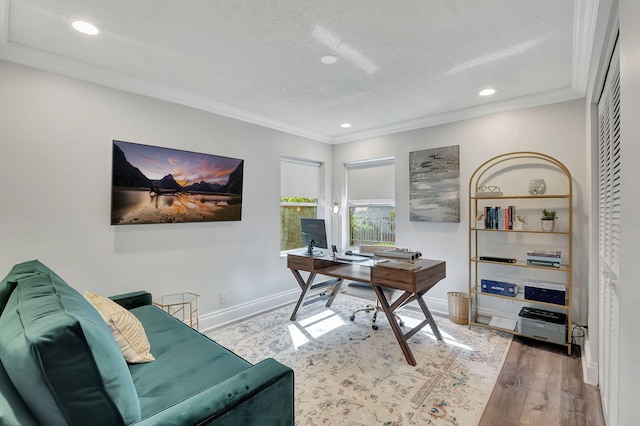
<svg viewBox="0 0 640 426">
<path fill-rule="evenodd" d="M 205 317 L 297 298 L 280 156 L 328 163 L 328 182 L 330 145 L 7 62 L 0 76 L 0 275 L 38 258 L 80 291 L 199 293 Z M 244 159 L 242 221 L 111 226 L 113 139 Z"/>
</svg>

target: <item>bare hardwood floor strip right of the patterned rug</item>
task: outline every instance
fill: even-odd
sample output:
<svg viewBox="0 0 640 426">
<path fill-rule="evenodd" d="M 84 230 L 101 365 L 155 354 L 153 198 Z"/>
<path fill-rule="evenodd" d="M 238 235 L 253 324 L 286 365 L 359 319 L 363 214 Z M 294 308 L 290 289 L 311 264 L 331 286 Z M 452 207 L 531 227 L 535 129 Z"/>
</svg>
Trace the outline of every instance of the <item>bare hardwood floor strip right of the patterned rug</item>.
<svg viewBox="0 0 640 426">
<path fill-rule="evenodd" d="M 480 426 L 604 426 L 600 392 L 564 347 L 515 337 Z"/>
</svg>

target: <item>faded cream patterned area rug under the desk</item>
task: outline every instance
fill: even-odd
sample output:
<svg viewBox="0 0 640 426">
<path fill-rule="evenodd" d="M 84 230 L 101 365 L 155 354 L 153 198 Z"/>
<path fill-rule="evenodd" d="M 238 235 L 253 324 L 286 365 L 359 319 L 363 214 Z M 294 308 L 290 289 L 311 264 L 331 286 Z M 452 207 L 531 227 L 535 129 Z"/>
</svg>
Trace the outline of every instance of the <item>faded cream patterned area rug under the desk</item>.
<svg viewBox="0 0 640 426">
<path fill-rule="evenodd" d="M 256 363 L 275 358 L 295 372 L 296 425 L 477 425 L 511 344 L 511 335 L 436 317 L 444 341 L 429 326 L 409 339 L 407 361 L 384 315 L 379 329 L 368 301 L 339 294 L 330 308 L 293 305 L 207 333 Z M 398 311 L 406 327 L 424 317 Z M 406 328 L 408 330 L 408 328 Z"/>
</svg>

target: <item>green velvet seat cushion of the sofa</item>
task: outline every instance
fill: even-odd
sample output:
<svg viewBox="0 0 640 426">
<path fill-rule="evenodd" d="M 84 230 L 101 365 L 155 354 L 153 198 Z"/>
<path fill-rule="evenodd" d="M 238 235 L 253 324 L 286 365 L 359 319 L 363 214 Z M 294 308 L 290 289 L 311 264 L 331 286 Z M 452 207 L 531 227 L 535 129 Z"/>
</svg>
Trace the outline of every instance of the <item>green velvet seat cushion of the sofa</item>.
<svg viewBox="0 0 640 426">
<path fill-rule="evenodd" d="M 142 306 L 131 313 L 145 326 L 156 357 L 154 362 L 129 366 L 143 418 L 251 367 L 157 306 Z"/>
</svg>

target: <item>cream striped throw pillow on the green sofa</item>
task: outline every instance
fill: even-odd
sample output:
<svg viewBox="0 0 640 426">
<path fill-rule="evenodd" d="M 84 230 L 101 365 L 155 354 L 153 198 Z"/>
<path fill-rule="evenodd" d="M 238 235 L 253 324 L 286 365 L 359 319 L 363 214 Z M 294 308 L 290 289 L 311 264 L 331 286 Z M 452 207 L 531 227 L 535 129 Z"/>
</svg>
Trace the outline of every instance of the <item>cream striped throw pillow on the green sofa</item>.
<svg viewBox="0 0 640 426">
<path fill-rule="evenodd" d="M 127 362 L 135 364 L 155 360 L 142 323 L 131 312 L 108 297 L 85 292 L 84 297 L 100 312 Z"/>
</svg>

